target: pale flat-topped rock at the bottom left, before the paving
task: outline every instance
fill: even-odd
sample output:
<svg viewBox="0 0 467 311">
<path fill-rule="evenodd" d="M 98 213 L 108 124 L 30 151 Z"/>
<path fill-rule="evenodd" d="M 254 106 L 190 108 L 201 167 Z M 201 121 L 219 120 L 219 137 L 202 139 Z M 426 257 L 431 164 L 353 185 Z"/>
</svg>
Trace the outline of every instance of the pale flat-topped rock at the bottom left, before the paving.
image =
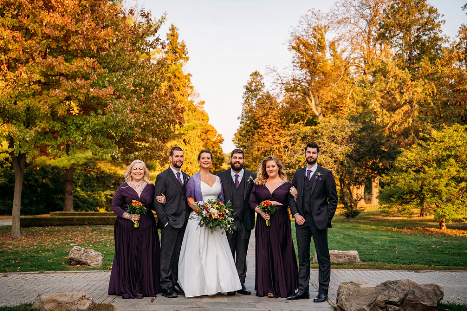
<svg viewBox="0 0 467 311">
<path fill-rule="evenodd" d="M 39 294 L 32 305 L 45 311 L 88 311 L 94 300 L 85 292 L 46 292 Z"/>
</svg>

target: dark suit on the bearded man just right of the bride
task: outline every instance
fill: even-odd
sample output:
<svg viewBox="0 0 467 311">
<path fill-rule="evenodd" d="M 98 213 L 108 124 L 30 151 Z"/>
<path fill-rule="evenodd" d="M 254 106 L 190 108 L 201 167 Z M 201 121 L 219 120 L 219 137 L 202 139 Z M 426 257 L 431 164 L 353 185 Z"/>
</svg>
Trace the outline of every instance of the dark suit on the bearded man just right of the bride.
<svg viewBox="0 0 467 311">
<path fill-rule="evenodd" d="M 217 175 L 222 181 L 224 187 L 225 201 L 231 201 L 232 207 L 235 212 L 233 217 L 233 224 L 237 228 L 233 233 L 227 233 L 227 240 L 229 241 L 230 249 L 232 251 L 235 267 L 237 268 L 240 283 L 245 284 L 245 277 L 247 271 L 247 251 L 250 242 L 250 235 L 253 228 L 255 228 L 255 211 L 249 205 L 250 193 L 253 188 L 253 181 L 248 181 L 249 177 L 256 178 L 256 174 L 245 170 L 242 180 L 235 187 L 233 183 L 232 169 L 219 172 Z"/>
</svg>

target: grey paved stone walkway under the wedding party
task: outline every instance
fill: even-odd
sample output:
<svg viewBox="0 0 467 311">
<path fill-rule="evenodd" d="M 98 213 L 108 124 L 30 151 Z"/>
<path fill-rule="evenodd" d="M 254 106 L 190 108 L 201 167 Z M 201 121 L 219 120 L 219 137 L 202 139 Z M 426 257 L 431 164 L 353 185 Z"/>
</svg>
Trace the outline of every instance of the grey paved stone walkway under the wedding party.
<svg viewBox="0 0 467 311">
<path fill-rule="evenodd" d="M 255 237 L 252 234 L 248 252 L 248 270 L 245 285 L 253 291 L 255 287 Z M 107 295 L 110 271 L 87 272 L 20 272 L 0 273 L 0 306 L 15 306 L 32 302 L 38 294 L 57 291 L 83 291 L 97 303 L 112 303 L 117 311 L 124 310 L 301 310 L 333 311 L 336 292 L 341 282 L 364 281 L 380 284 L 387 280 L 410 279 L 419 284 L 436 283 L 445 286 L 444 302 L 467 304 L 467 271 L 389 271 L 389 270 L 338 270 L 331 271 L 329 300 L 313 303 L 313 300 L 290 301 L 282 298 L 259 298 L 252 295 L 202 296 L 195 298 L 156 298 L 126 300 L 120 296 Z M 310 296 L 318 294 L 318 270 L 311 270 Z"/>
</svg>

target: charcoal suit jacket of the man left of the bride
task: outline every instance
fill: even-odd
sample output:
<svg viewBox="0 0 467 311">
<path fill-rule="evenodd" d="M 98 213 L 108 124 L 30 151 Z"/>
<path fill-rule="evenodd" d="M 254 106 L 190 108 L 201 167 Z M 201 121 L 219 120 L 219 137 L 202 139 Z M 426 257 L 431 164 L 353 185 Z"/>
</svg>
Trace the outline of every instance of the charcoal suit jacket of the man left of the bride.
<svg viewBox="0 0 467 311">
<path fill-rule="evenodd" d="M 170 167 L 156 177 L 156 183 L 154 184 L 154 209 L 157 214 L 157 225 L 159 228 L 164 227 L 167 223 L 173 228 L 181 228 L 188 221 L 190 208 L 185 196 L 185 188 L 190 176 L 185 172 L 180 172 L 184 180 L 183 187 Z M 161 195 L 161 193 L 166 196 L 165 205 L 162 205 L 155 199 L 155 196 Z"/>
</svg>

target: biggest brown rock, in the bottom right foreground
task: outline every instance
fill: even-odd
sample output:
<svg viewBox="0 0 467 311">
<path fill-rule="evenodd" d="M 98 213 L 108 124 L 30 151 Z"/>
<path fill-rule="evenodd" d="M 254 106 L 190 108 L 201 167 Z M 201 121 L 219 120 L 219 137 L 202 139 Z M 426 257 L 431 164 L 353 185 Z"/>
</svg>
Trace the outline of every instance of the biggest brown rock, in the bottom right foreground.
<svg viewBox="0 0 467 311">
<path fill-rule="evenodd" d="M 411 280 L 378 285 L 343 282 L 337 290 L 337 311 L 433 311 L 444 297 L 444 286 Z"/>
</svg>

